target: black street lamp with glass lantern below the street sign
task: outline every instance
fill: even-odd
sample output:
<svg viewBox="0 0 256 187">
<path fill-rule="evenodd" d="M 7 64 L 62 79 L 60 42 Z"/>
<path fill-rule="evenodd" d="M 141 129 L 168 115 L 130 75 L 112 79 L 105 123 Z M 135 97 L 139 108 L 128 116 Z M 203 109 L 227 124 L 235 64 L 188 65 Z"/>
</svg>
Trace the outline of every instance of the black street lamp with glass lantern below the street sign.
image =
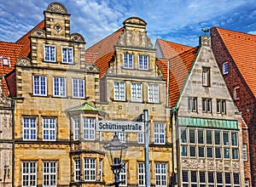
<svg viewBox="0 0 256 187">
<path fill-rule="evenodd" d="M 112 185 L 118 187 L 119 184 L 123 182 L 119 180 L 119 173 L 121 172 L 121 169 L 123 167 L 123 165 L 121 164 L 122 152 L 127 148 L 127 145 L 120 142 L 119 137 L 114 134 L 113 139 L 111 139 L 108 144 L 105 144 L 104 148 L 109 151 L 110 155 L 110 167 L 114 175 L 114 183 Z"/>
</svg>

